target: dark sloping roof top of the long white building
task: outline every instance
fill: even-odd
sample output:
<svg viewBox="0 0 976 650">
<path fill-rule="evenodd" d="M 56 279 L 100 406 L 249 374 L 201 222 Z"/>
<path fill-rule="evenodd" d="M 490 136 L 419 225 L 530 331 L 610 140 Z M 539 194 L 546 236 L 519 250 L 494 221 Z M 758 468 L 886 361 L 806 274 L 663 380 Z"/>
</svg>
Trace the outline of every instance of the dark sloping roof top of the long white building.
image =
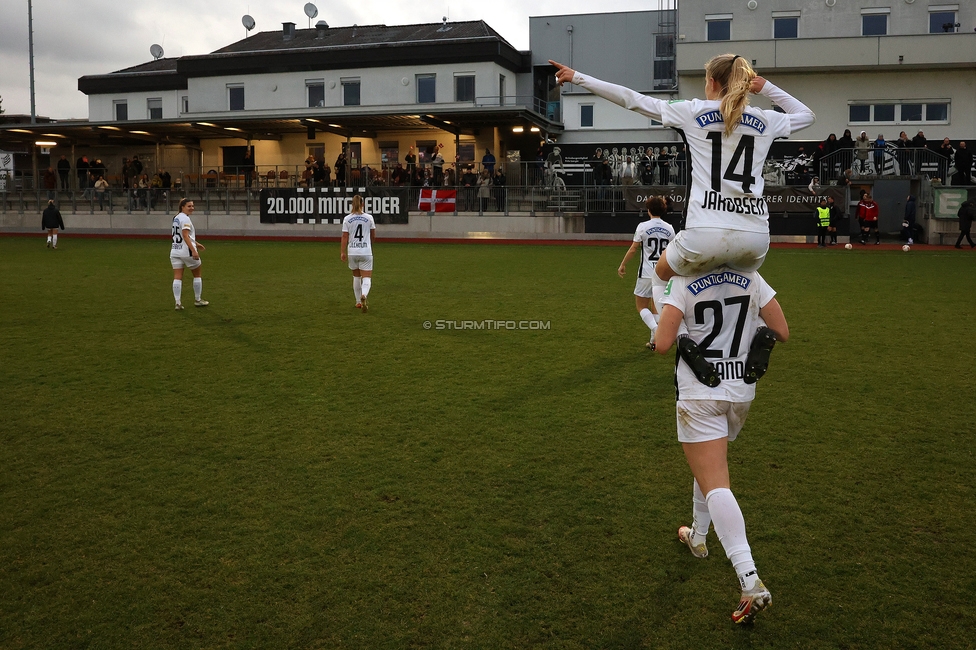
<svg viewBox="0 0 976 650">
<path fill-rule="evenodd" d="M 458 42 L 490 39 L 512 47 L 501 34 L 483 20 L 461 23 L 426 23 L 422 25 L 353 25 L 329 27 L 324 37 L 318 38 L 318 29 L 296 29 L 295 36 L 285 40 L 282 30 L 260 32 L 231 43 L 212 54 L 240 52 L 266 52 L 269 50 L 296 50 L 304 48 L 369 47 L 377 45 L 404 45 L 408 43 Z M 203 55 L 209 56 L 209 55 Z"/>
</svg>

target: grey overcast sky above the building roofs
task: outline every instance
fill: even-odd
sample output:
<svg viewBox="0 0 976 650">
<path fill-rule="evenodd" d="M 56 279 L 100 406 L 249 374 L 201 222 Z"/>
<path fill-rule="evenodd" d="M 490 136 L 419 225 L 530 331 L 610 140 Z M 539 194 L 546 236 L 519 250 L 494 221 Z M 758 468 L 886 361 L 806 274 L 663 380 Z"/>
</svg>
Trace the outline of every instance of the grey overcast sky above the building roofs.
<svg viewBox="0 0 976 650">
<path fill-rule="evenodd" d="M 662 0 L 616 0 L 613 11 L 656 9 Z M 484 20 L 516 49 L 529 49 L 529 16 L 596 13 L 592 0 L 343 0 L 316 5 L 334 27 L 409 25 Z M 255 32 L 281 23 L 308 27 L 302 0 L 33 0 L 34 86 L 37 114 L 87 118 L 88 98 L 78 78 L 152 60 L 159 43 L 167 57 L 206 54 L 244 38 L 241 17 Z M 314 24 L 314 21 L 313 21 Z M 6 113 L 30 114 L 27 0 L 0 0 L 0 97 Z"/>
</svg>

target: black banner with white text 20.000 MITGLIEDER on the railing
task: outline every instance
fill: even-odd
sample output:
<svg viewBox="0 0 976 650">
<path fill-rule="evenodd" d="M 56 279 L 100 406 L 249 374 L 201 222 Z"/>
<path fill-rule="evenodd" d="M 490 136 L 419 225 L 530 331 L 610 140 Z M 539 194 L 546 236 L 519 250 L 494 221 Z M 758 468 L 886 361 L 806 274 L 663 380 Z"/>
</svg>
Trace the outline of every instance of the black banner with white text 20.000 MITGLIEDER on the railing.
<svg viewBox="0 0 976 650">
<path fill-rule="evenodd" d="M 282 187 L 261 190 L 261 223 L 341 224 L 352 212 L 352 197 L 376 223 L 407 223 L 405 187 Z"/>
</svg>

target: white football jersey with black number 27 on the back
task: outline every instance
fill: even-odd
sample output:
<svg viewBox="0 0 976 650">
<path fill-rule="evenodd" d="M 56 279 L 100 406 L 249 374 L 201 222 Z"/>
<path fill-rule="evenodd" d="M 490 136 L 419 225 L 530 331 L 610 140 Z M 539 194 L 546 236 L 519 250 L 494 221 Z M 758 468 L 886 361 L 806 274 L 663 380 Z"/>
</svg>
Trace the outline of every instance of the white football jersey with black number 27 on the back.
<svg viewBox="0 0 976 650">
<path fill-rule="evenodd" d="M 756 271 L 721 267 L 705 275 L 671 278 L 662 303 L 684 314 L 689 336 L 722 378 L 721 384 L 709 388 L 679 358 L 674 371 L 678 399 L 749 402 L 756 396 L 756 385 L 746 384 L 742 377 L 749 346 L 763 325 L 759 310 L 775 295 Z"/>
</svg>

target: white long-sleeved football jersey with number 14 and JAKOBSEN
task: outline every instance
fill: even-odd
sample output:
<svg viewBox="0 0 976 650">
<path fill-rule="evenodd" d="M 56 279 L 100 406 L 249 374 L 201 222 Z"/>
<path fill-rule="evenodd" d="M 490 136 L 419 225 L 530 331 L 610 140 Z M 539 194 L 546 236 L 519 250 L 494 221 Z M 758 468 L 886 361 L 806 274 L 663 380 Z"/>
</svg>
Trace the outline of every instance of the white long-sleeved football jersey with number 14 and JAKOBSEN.
<svg viewBox="0 0 976 650">
<path fill-rule="evenodd" d="M 730 137 L 724 134 L 718 100 L 669 103 L 579 72 L 573 83 L 684 133 L 692 169 L 688 228 L 768 233 L 762 172 L 769 146 L 774 139 L 787 137 L 817 119 L 813 111 L 768 80 L 760 94 L 786 113 L 747 106 Z"/>
</svg>

